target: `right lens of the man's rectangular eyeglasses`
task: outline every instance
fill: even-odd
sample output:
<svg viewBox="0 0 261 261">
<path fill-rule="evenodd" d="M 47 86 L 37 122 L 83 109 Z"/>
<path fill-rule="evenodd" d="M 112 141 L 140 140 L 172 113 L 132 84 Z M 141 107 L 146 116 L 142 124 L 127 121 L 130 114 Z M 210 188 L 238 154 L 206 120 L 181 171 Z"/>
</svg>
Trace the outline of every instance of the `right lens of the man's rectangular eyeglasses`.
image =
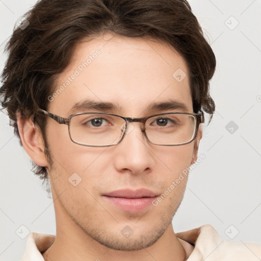
<svg viewBox="0 0 261 261">
<path fill-rule="evenodd" d="M 145 130 L 148 139 L 154 144 L 183 144 L 193 140 L 196 118 L 188 114 L 162 114 L 149 118 Z"/>
</svg>

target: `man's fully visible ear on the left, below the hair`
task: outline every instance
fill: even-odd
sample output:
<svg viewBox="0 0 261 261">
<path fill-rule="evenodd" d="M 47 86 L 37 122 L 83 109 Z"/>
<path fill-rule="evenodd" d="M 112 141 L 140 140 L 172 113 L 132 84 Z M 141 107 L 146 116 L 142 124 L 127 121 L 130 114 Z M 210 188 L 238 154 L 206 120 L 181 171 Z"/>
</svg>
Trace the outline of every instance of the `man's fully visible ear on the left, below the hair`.
<svg viewBox="0 0 261 261">
<path fill-rule="evenodd" d="M 47 167 L 48 162 L 44 154 L 44 141 L 40 130 L 35 126 L 32 117 L 24 118 L 20 113 L 17 113 L 16 116 L 24 150 L 38 166 Z"/>
</svg>

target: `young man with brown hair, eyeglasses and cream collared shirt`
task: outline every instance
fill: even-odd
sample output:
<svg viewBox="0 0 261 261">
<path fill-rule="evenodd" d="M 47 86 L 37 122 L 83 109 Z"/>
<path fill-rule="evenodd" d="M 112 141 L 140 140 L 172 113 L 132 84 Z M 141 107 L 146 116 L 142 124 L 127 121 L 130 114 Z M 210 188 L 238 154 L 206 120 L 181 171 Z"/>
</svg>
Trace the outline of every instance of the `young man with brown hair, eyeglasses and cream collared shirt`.
<svg viewBox="0 0 261 261">
<path fill-rule="evenodd" d="M 215 110 L 215 56 L 186 1 L 43 0 L 8 50 L 2 105 L 57 225 L 22 260 L 260 258 L 210 225 L 172 228 Z"/>
</svg>

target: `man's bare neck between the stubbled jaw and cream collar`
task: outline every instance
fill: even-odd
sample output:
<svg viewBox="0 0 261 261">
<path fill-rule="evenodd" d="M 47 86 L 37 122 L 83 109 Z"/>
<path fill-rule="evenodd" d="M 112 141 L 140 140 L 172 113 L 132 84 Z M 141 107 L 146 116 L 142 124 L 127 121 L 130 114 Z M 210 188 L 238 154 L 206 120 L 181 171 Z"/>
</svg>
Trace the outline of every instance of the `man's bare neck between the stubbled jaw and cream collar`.
<svg viewBox="0 0 261 261">
<path fill-rule="evenodd" d="M 186 248 L 186 243 L 180 243 L 171 224 L 153 245 L 137 251 L 110 249 L 93 240 L 75 223 L 70 225 L 65 225 L 64 223 L 57 224 L 62 224 L 62 226 L 57 227 L 56 239 L 53 245 L 43 253 L 45 261 L 161 261 L 170 260 L 170 256 L 172 261 L 184 261 L 187 257 L 184 249 L 184 247 Z"/>
</svg>

